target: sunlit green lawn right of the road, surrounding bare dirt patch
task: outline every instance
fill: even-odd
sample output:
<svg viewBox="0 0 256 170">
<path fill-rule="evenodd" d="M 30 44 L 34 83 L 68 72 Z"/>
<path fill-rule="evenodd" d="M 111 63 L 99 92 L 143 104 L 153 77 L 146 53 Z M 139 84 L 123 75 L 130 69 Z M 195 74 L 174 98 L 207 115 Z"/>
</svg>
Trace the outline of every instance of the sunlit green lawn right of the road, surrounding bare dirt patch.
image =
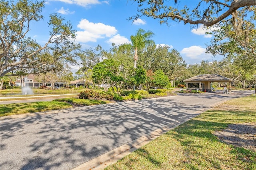
<svg viewBox="0 0 256 170">
<path fill-rule="evenodd" d="M 228 101 L 170 130 L 106 170 L 255 170 L 256 152 L 225 144 L 213 132 L 256 122 L 256 97 Z"/>
</svg>

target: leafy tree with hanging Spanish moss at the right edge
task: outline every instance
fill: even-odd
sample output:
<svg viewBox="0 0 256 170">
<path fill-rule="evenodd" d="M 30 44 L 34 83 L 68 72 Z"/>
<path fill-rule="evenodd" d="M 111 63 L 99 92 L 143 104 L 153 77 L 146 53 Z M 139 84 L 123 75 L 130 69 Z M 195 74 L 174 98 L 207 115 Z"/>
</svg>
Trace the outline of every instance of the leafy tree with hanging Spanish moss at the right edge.
<svg viewBox="0 0 256 170">
<path fill-rule="evenodd" d="M 256 69 L 256 7 L 250 8 L 254 12 L 251 17 L 244 17 L 242 10 L 233 14 L 231 20 L 220 24 L 220 29 L 211 32 L 214 38 L 206 51 L 224 55 L 250 71 Z"/>
</svg>

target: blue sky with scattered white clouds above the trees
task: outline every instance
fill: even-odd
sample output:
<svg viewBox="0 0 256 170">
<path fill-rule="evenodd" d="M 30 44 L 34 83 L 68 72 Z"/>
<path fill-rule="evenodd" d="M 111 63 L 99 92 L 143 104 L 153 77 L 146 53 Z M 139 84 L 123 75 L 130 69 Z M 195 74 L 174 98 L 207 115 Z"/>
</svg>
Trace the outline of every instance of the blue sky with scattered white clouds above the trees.
<svg viewBox="0 0 256 170">
<path fill-rule="evenodd" d="M 180 0 L 178 8 L 184 5 L 192 8 L 198 0 Z M 173 0 L 169 5 L 176 6 Z M 221 56 L 213 57 L 205 54 L 206 43 L 210 44 L 211 35 L 206 35 L 202 25 L 193 29 L 184 22 L 170 22 L 160 25 L 159 20 L 142 17 L 134 22 L 128 20 L 135 16 L 138 3 L 127 0 L 46 0 L 42 10 L 44 20 L 32 23 L 28 36 L 44 44 L 49 38 L 48 16 L 57 13 L 72 23 L 76 32 L 76 42 L 82 49 L 96 47 L 98 44 L 103 49 L 109 50 L 111 44 L 120 45 L 130 43 L 130 36 L 135 35 L 140 28 L 154 32 L 152 40 L 158 45 L 168 45 L 170 49 L 180 52 L 187 64 L 200 63 L 202 60 L 220 60 Z M 76 71 L 79 66 L 72 66 Z"/>
</svg>

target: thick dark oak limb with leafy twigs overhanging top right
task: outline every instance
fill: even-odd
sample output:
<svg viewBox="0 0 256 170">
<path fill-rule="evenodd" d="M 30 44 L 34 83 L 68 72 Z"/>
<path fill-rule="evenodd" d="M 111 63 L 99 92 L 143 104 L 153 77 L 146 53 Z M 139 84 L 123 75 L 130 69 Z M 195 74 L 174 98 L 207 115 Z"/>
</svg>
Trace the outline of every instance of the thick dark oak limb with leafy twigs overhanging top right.
<svg viewBox="0 0 256 170">
<path fill-rule="evenodd" d="M 256 0 L 200 0 L 193 2 L 195 7 L 178 8 L 178 0 L 132 0 L 138 2 L 138 12 L 130 19 L 141 16 L 160 19 L 160 23 L 168 24 L 169 20 L 183 21 L 184 24 L 204 24 L 213 26 L 225 20 L 239 8 L 256 5 Z"/>
</svg>

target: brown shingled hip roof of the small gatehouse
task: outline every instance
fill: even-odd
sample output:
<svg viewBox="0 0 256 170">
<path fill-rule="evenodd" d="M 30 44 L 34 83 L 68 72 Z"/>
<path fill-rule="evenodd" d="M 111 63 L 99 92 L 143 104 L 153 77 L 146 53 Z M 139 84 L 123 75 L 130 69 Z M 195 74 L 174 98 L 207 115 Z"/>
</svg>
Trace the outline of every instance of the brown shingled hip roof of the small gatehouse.
<svg viewBox="0 0 256 170">
<path fill-rule="evenodd" d="M 220 81 L 232 81 L 232 79 L 229 79 L 227 77 L 224 77 L 222 75 L 218 75 L 218 74 L 202 74 L 202 75 L 197 75 L 194 77 L 191 77 L 189 79 L 186 79 L 184 81 L 216 81 L 216 82 L 220 82 Z"/>
</svg>

